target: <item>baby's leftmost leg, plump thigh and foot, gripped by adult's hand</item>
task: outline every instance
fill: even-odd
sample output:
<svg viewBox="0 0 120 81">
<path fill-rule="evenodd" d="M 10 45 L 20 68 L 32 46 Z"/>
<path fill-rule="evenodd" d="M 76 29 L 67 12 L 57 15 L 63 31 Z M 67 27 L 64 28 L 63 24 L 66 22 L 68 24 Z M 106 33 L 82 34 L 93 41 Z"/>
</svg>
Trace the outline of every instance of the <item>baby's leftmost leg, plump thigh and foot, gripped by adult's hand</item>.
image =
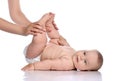
<svg viewBox="0 0 120 81">
<path fill-rule="evenodd" d="M 45 14 L 40 20 L 39 24 L 45 26 L 45 23 L 52 17 L 52 15 Z M 27 48 L 27 58 L 35 58 L 40 55 L 40 53 L 44 50 L 47 43 L 46 32 L 42 32 L 42 34 L 38 33 L 36 36 L 33 36 L 32 42 L 29 44 Z"/>
</svg>

